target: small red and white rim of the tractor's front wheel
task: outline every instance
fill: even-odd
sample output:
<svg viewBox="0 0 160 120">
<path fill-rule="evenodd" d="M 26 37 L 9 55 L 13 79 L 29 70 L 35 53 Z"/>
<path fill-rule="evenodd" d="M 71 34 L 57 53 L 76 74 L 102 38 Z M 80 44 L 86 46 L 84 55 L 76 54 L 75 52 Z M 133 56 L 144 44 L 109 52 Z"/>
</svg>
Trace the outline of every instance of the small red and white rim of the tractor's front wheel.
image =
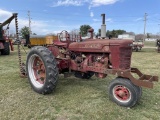
<svg viewBox="0 0 160 120">
<path fill-rule="evenodd" d="M 127 103 L 131 100 L 130 90 L 123 85 L 117 85 L 113 88 L 113 96 L 123 103 Z"/>
</svg>

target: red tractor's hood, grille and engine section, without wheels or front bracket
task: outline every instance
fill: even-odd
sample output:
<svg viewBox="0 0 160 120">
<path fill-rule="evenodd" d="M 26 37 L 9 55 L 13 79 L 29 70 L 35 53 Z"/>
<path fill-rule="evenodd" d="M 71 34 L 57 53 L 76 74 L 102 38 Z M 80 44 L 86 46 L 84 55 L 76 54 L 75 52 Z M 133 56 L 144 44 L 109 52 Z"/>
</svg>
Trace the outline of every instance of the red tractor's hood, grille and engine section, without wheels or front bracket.
<svg viewBox="0 0 160 120">
<path fill-rule="evenodd" d="M 106 76 L 103 75 L 104 72 L 111 67 L 117 70 L 130 69 L 132 54 L 130 44 L 131 40 L 90 39 L 83 42 L 70 41 L 68 48 L 64 41 L 55 41 L 54 45 L 48 48 L 57 58 L 60 71 L 66 68 L 82 72 L 94 71 L 102 73 L 99 76 L 103 77 Z M 74 59 L 70 59 L 70 52 L 75 54 Z M 67 55 L 69 59 L 66 59 Z"/>
</svg>

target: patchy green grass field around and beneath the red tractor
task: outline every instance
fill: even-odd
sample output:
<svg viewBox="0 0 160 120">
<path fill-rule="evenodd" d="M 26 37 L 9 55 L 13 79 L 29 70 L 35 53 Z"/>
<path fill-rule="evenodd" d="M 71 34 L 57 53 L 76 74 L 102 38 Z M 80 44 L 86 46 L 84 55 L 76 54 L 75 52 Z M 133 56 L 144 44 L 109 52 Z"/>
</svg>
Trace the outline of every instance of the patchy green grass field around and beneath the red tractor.
<svg viewBox="0 0 160 120">
<path fill-rule="evenodd" d="M 133 52 L 132 67 L 160 78 L 160 54 L 153 48 Z M 19 76 L 15 50 L 0 56 L 0 120 L 160 120 L 159 82 L 153 89 L 144 88 L 139 103 L 129 109 L 108 98 L 107 87 L 115 77 L 81 80 L 60 75 L 56 92 L 40 95 Z"/>
</svg>

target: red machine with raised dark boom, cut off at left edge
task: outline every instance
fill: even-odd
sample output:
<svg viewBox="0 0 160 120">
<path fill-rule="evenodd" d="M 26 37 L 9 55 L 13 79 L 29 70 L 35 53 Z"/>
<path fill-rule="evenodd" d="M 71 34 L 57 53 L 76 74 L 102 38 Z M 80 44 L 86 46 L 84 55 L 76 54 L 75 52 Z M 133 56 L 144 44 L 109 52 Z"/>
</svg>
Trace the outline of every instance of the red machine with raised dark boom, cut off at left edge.
<svg viewBox="0 0 160 120">
<path fill-rule="evenodd" d="M 5 30 L 3 29 L 3 26 L 8 24 L 7 29 L 9 29 L 9 24 L 15 17 L 17 17 L 17 13 L 13 13 L 10 18 L 8 18 L 3 23 L 0 23 L 0 52 L 2 55 L 9 55 L 10 49 L 11 51 L 14 50 L 12 41 L 7 37 L 7 35 L 5 35 Z"/>
</svg>

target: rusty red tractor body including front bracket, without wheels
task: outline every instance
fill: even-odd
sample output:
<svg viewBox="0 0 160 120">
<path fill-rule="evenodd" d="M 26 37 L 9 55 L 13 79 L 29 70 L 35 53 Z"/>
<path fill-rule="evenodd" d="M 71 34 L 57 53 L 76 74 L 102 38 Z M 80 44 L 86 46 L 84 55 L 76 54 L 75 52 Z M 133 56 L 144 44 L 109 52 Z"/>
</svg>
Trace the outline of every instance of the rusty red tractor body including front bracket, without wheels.
<svg viewBox="0 0 160 120">
<path fill-rule="evenodd" d="M 65 33 L 65 41 L 54 41 L 53 45 L 48 46 L 58 61 L 59 73 L 65 71 L 63 74 L 67 76 L 69 70 L 81 73 L 92 71 L 99 78 L 114 74 L 148 88 L 153 88 L 153 82 L 158 81 L 157 76 L 145 75 L 137 68 L 131 68 L 132 41 L 88 39 L 76 42 L 70 40 L 68 32 Z M 133 77 L 133 74 L 139 78 Z"/>
</svg>

